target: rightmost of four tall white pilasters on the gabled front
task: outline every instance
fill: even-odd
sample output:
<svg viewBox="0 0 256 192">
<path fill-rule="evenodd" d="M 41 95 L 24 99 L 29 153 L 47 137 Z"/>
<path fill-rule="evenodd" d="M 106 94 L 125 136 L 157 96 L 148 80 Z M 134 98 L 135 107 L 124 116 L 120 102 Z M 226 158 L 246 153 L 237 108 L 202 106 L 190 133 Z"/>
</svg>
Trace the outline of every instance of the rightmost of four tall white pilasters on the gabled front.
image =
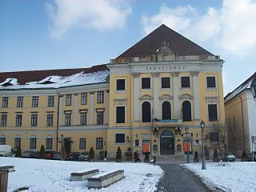
<svg viewBox="0 0 256 192">
<path fill-rule="evenodd" d="M 198 89 L 199 71 L 192 71 L 191 74 L 193 77 L 193 91 L 194 91 L 194 120 L 200 120 L 199 89 Z"/>
</svg>

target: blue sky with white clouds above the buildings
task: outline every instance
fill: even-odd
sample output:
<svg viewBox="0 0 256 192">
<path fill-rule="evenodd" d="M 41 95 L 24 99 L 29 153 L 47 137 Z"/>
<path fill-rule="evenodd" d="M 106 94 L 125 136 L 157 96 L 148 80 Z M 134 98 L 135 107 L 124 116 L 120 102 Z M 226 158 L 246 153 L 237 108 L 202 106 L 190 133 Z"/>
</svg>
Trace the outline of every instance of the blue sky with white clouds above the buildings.
<svg viewBox="0 0 256 192">
<path fill-rule="evenodd" d="M 224 94 L 256 70 L 256 0 L 0 0 L 0 71 L 108 63 L 162 23 L 220 55 Z"/>
</svg>

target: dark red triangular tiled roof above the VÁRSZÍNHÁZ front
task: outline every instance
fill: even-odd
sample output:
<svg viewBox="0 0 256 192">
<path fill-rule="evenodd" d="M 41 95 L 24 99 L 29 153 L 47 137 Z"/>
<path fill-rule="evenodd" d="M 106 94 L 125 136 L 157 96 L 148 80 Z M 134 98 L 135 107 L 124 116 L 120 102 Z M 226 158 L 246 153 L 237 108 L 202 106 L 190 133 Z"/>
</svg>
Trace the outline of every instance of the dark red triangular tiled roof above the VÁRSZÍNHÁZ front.
<svg viewBox="0 0 256 192">
<path fill-rule="evenodd" d="M 183 37 L 181 34 L 171 30 L 169 27 L 162 25 L 148 34 L 145 38 L 142 38 L 141 41 L 130 47 L 130 49 L 120 54 L 116 59 L 152 57 L 153 53 L 158 50 L 162 42 L 165 41 L 169 43 L 170 50 L 172 50 L 174 54 L 178 54 L 178 56 L 214 55 Z"/>
</svg>

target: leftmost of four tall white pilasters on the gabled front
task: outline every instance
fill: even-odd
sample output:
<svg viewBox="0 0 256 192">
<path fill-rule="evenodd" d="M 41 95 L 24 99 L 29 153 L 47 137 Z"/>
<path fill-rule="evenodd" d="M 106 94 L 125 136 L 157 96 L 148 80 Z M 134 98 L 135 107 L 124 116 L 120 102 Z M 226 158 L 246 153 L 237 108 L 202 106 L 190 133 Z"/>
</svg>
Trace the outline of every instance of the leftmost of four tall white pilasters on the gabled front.
<svg viewBox="0 0 256 192">
<path fill-rule="evenodd" d="M 134 122 L 139 121 L 139 74 L 133 74 L 134 76 Z"/>
</svg>

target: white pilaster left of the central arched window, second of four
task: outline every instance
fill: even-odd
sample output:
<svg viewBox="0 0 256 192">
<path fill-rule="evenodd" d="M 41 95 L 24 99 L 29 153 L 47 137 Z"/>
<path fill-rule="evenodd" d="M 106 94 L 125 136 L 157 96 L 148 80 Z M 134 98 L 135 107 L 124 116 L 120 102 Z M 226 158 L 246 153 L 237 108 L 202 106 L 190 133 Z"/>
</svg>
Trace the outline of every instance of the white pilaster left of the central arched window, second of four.
<svg viewBox="0 0 256 192">
<path fill-rule="evenodd" d="M 153 89 L 154 89 L 154 112 L 152 115 L 154 115 L 153 118 L 159 119 L 159 87 L 158 87 L 158 73 L 153 74 Z"/>
</svg>

